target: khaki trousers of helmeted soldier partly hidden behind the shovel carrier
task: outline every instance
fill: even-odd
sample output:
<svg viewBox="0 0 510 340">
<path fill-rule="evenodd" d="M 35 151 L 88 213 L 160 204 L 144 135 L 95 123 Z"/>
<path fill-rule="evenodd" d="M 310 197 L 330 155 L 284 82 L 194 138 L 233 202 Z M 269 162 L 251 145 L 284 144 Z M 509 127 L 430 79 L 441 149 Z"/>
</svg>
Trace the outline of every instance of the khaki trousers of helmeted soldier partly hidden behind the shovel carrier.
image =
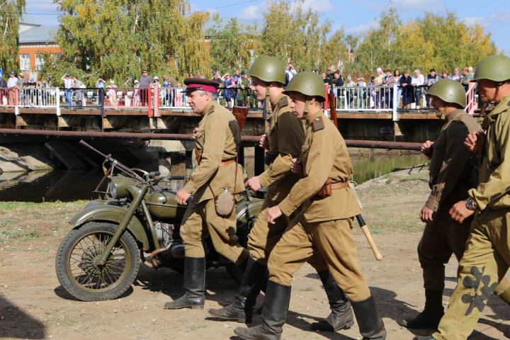
<svg viewBox="0 0 510 340">
<path fill-rule="evenodd" d="M 274 246 L 276 246 L 278 241 L 280 241 L 283 232 L 285 232 L 291 218 L 294 216 L 291 215 L 292 217 L 288 217 L 281 215 L 275 220 L 274 225 L 270 225 L 266 220 L 266 211 L 268 208 L 277 204 L 278 203 L 271 201 L 270 198 L 266 198 L 266 200 L 264 200 L 262 211 L 259 216 L 257 216 L 248 235 L 248 250 L 251 259 L 254 259 L 264 265 L 267 265 L 271 251 L 273 251 Z M 310 263 L 317 272 L 327 270 L 327 265 L 324 262 L 324 259 L 322 259 L 322 256 L 318 253 L 308 259 L 307 262 Z"/>
</svg>

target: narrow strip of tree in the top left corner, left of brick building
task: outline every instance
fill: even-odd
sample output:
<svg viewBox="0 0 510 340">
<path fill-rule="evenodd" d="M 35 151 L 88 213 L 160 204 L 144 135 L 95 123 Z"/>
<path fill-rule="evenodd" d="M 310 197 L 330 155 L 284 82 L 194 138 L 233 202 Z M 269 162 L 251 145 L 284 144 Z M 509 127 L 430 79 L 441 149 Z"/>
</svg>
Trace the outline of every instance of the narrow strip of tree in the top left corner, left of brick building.
<svg viewBox="0 0 510 340">
<path fill-rule="evenodd" d="M 25 0 L 0 0 L 0 67 L 4 72 L 19 68 L 19 18 L 25 10 Z"/>
</svg>

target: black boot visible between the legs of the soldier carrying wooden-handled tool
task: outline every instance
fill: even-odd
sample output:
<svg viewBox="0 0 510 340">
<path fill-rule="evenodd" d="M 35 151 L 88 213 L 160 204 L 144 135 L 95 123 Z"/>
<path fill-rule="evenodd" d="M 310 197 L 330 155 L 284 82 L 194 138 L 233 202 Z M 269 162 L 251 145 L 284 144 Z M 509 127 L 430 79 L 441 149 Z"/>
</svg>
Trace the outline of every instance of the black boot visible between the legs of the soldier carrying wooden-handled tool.
<svg viewBox="0 0 510 340">
<path fill-rule="evenodd" d="M 321 271 L 318 274 L 326 291 L 331 313 L 326 319 L 314 322 L 310 327 L 314 331 L 338 331 L 351 328 L 354 324 L 351 302 L 344 291 L 336 285 L 329 271 Z"/>
</svg>

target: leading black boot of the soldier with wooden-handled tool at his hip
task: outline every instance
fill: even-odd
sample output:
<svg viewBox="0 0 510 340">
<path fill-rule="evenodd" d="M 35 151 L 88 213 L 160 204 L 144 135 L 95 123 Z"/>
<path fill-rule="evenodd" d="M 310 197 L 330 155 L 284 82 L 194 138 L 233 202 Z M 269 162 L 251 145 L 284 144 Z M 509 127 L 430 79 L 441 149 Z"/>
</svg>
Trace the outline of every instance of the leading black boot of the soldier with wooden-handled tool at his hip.
<svg viewBox="0 0 510 340">
<path fill-rule="evenodd" d="M 268 281 L 262 323 L 256 327 L 237 327 L 234 333 L 245 340 L 280 340 L 290 302 L 290 285 Z"/>
</svg>

